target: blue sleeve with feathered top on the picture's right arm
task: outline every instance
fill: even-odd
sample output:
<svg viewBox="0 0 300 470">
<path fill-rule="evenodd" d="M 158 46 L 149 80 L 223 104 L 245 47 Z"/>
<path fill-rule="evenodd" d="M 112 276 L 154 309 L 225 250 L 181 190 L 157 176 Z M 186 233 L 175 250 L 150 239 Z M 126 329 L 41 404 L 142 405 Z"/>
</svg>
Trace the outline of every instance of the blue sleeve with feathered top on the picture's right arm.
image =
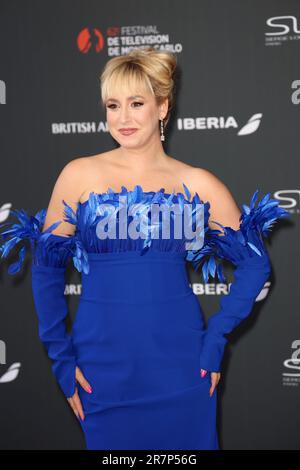
<svg viewBox="0 0 300 470">
<path fill-rule="evenodd" d="M 215 277 L 215 274 L 220 282 L 225 281 L 222 264 L 216 263 L 216 258 L 229 260 L 236 267 L 230 292 L 222 296 L 219 311 L 208 319 L 202 337 L 200 369 L 210 372 L 220 372 L 228 342 L 224 335 L 249 315 L 269 277 L 271 265 L 263 236 L 267 236 L 277 219 L 289 216 L 287 211 L 278 207 L 278 201 L 270 199 L 269 193 L 255 207 L 257 194 L 258 190 L 251 198 L 250 207 L 243 205 L 238 230 L 216 222 L 224 229 L 224 235 L 220 235 L 220 230 L 207 227 L 203 247 L 188 252 L 186 257 L 196 270 L 202 266 L 205 283 L 209 275 Z"/>
</svg>

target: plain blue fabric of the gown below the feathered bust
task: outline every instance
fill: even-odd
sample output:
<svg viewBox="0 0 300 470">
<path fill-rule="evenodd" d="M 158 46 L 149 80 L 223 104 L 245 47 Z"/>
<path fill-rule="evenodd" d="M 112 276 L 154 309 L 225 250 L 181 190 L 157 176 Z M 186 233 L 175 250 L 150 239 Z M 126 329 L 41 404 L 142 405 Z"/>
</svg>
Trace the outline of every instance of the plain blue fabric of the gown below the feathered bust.
<svg viewBox="0 0 300 470">
<path fill-rule="evenodd" d="M 204 316 L 184 252 L 89 253 L 72 338 L 86 448 L 219 449 L 217 388 L 200 376 Z"/>
</svg>

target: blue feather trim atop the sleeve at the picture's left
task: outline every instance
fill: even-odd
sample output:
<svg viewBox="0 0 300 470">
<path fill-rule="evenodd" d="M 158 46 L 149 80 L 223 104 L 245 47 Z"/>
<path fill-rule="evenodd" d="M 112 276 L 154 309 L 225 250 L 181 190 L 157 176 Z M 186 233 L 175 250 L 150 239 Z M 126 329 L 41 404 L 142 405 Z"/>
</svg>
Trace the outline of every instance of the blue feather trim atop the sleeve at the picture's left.
<svg viewBox="0 0 300 470">
<path fill-rule="evenodd" d="M 71 209 L 69 206 L 68 208 Z M 51 233 L 61 223 L 60 220 L 42 232 L 47 215 L 46 209 L 41 209 L 34 216 L 28 215 L 24 209 L 12 210 L 11 213 L 19 223 L 6 222 L 0 225 L 0 228 L 9 227 L 0 233 L 1 240 L 6 240 L 0 246 L 1 258 L 6 258 L 19 243 L 23 242 L 23 246 L 19 249 L 18 261 L 8 267 L 9 274 L 16 274 L 23 265 L 27 250 L 24 242 L 29 243 L 34 265 L 63 267 L 72 256 L 74 266 L 79 272 L 83 271 L 86 274 L 89 272 L 88 256 L 81 241 L 75 235 L 61 236 Z M 65 215 L 67 215 L 66 210 Z"/>
</svg>

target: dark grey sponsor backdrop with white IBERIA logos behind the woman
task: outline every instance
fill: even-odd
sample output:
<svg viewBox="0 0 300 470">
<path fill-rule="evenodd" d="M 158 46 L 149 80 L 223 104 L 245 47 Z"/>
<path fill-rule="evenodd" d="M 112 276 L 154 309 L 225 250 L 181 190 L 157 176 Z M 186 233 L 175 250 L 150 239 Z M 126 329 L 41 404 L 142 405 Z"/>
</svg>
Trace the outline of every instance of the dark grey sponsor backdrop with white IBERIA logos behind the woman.
<svg viewBox="0 0 300 470">
<path fill-rule="evenodd" d="M 291 214 L 267 242 L 270 279 L 229 336 L 218 429 L 222 449 L 299 449 L 298 1 L 0 0 L 0 223 L 47 208 L 70 160 L 117 147 L 99 76 L 110 58 L 148 45 L 178 59 L 166 153 L 213 172 L 240 208 L 259 189 Z M 0 448 L 84 449 L 38 338 L 30 252 L 10 276 L 15 260 L 0 263 Z M 204 284 L 188 269 L 208 319 L 230 282 Z M 69 267 L 68 328 L 80 292 Z"/>
</svg>

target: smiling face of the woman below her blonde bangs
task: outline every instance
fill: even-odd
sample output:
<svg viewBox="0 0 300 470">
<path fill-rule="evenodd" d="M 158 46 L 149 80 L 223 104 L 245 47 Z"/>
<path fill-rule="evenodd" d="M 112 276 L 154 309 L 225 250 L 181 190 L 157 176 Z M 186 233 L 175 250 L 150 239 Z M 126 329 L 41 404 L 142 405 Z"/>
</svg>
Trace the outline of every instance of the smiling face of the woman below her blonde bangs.
<svg viewBox="0 0 300 470">
<path fill-rule="evenodd" d="M 159 139 L 159 119 L 167 113 L 167 100 L 158 106 L 151 93 L 124 96 L 114 93 L 106 101 L 106 119 L 112 137 L 126 148 L 141 147 L 151 139 Z M 122 130 L 123 129 L 123 130 Z M 126 132 L 126 129 L 135 129 Z"/>
</svg>

